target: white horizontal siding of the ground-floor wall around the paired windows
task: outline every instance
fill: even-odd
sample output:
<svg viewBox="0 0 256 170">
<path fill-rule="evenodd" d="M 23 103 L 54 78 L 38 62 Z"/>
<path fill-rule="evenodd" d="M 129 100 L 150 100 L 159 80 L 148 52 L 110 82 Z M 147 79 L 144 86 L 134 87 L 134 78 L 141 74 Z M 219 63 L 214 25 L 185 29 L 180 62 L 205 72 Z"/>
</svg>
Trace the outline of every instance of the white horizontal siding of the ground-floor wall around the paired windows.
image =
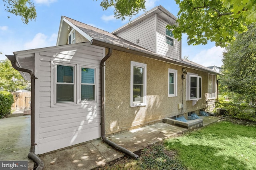
<svg viewBox="0 0 256 170">
<path fill-rule="evenodd" d="M 52 150 L 69 147 L 100 138 L 100 61 L 105 49 L 83 43 L 46 48 L 35 53 L 36 98 L 35 98 L 35 153 L 43 154 Z M 95 100 L 79 101 L 80 90 L 75 93 L 74 102 L 54 104 L 54 64 L 75 66 L 79 69 L 92 68 L 95 72 Z M 82 64 L 82 65 L 81 65 Z M 52 74 L 51 74 L 52 73 Z M 79 77 L 79 76 L 76 76 Z M 80 78 L 74 80 L 80 86 Z M 78 88 L 79 89 L 79 88 Z"/>
</svg>

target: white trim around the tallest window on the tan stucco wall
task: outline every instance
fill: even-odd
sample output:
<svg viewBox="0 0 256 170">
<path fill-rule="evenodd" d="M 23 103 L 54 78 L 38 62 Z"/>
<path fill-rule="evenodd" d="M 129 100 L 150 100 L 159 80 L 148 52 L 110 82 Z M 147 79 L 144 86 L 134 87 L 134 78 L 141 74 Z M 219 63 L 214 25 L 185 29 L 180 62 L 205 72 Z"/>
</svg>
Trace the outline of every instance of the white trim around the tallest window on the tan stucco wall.
<svg viewBox="0 0 256 170">
<path fill-rule="evenodd" d="M 134 103 L 133 102 L 133 67 L 138 66 L 142 67 L 143 72 L 143 102 L 142 103 Z M 130 70 L 130 107 L 136 107 L 136 106 L 146 106 L 146 92 L 147 92 L 147 64 L 144 63 L 138 63 L 131 61 L 131 70 Z"/>
</svg>

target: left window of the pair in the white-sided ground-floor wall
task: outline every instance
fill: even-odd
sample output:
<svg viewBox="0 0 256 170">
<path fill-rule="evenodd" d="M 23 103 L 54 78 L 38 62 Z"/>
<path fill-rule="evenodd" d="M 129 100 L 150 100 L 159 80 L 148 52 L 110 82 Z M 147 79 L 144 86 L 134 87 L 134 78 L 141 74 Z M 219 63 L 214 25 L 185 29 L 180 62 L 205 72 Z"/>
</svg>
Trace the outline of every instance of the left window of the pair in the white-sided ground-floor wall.
<svg viewBox="0 0 256 170">
<path fill-rule="evenodd" d="M 74 102 L 75 66 L 56 65 L 56 103 Z"/>
</svg>

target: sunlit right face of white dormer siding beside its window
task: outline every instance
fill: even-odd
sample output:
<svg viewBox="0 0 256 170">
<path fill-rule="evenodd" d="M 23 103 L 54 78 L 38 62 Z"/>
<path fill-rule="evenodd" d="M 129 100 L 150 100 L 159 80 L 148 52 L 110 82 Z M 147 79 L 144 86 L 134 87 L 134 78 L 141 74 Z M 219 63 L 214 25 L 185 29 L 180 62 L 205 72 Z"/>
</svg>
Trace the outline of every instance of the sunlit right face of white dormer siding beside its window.
<svg viewBox="0 0 256 170">
<path fill-rule="evenodd" d="M 158 18 L 156 31 L 156 53 L 172 59 L 180 60 L 180 41 L 174 39 L 174 46 L 166 43 L 166 25 L 168 25 L 166 21 Z"/>
</svg>

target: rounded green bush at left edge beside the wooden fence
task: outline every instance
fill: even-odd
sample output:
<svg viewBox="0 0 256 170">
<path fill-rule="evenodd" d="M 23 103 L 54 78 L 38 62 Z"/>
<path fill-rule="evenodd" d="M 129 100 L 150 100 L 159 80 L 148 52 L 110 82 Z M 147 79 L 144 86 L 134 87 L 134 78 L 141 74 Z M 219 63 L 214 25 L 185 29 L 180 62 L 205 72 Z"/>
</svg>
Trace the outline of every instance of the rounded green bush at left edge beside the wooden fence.
<svg viewBox="0 0 256 170">
<path fill-rule="evenodd" d="M 10 92 L 0 92 L 0 118 L 3 118 L 11 113 L 11 107 L 13 103 L 14 98 Z"/>
</svg>

